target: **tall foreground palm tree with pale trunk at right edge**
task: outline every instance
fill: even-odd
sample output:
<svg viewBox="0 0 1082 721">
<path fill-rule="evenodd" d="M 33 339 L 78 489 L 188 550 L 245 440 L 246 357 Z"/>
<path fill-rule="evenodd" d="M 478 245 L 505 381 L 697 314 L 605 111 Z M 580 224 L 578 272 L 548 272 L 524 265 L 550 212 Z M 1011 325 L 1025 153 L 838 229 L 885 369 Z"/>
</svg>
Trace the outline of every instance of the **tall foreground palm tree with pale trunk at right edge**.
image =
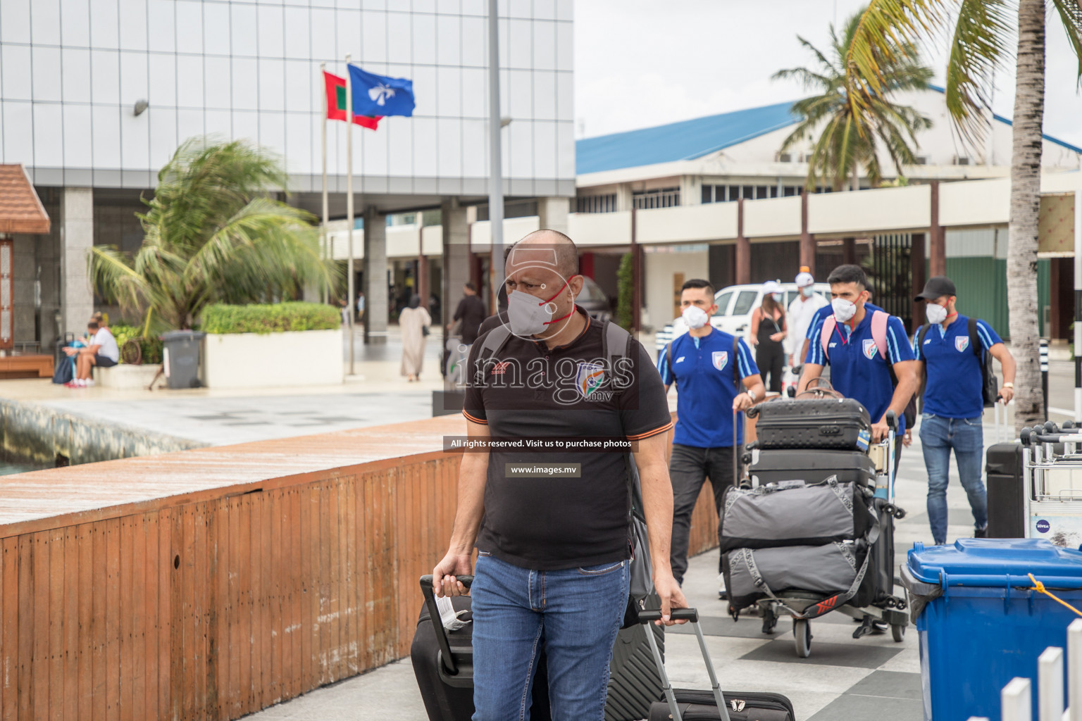
<svg viewBox="0 0 1082 721">
<path fill-rule="evenodd" d="M 855 68 L 850 98 L 868 104 L 886 83 L 883 63 L 909 55 L 918 38 L 931 40 L 955 16 L 947 65 L 947 107 L 971 145 L 988 130 L 991 70 L 1010 59 L 1011 14 L 1017 9 L 1017 52 L 1011 153 L 1011 226 L 1007 305 L 1015 376 L 1015 427 L 1043 419 L 1037 315 L 1038 211 L 1044 118 L 1045 11 L 1056 11 L 1082 79 L 1082 5 L 1079 0 L 870 0 L 846 59 Z"/>
</svg>

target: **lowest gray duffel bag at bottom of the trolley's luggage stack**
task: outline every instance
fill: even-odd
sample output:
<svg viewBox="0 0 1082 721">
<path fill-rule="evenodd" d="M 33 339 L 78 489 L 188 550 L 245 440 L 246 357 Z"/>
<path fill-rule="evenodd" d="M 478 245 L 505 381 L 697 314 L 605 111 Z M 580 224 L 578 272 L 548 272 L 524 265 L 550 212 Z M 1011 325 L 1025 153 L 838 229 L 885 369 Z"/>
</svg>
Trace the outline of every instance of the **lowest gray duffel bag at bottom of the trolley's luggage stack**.
<svg viewBox="0 0 1082 721">
<path fill-rule="evenodd" d="M 729 610 L 745 609 L 787 590 L 836 596 L 841 605 L 860 586 L 867 556 L 866 540 L 731 550 L 722 560 Z"/>
</svg>

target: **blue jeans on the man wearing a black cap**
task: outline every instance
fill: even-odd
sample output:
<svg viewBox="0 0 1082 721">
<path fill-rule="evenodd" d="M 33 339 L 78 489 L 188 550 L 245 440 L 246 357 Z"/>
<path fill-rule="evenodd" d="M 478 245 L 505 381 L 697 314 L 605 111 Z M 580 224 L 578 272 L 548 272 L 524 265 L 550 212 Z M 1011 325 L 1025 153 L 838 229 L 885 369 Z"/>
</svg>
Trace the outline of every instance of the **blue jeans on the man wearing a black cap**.
<svg viewBox="0 0 1082 721">
<path fill-rule="evenodd" d="M 980 460 L 985 453 L 985 431 L 980 416 L 976 418 L 944 418 L 929 413 L 921 415 L 921 448 L 928 471 L 928 521 L 937 545 L 947 543 L 947 483 L 950 452 L 954 450 L 958 475 L 969 497 L 973 524 L 988 526 L 988 495 L 980 478 Z"/>
</svg>

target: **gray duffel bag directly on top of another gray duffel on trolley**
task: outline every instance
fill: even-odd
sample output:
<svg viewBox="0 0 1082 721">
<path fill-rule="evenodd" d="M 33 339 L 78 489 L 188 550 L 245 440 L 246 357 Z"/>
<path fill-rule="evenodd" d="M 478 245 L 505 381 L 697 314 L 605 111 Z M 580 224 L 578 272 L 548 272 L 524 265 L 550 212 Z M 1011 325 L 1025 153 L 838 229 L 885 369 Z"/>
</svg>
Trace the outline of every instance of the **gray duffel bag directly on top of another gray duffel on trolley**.
<svg viewBox="0 0 1082 721">
<path fill-rule="evenodd" d="M 818 483 L 782 481 L 726 489 L 717 535 L 735 548 L 821 546 L 861 538 L 875 523 L 874 490 L 831 476 Z"/>
</svg>

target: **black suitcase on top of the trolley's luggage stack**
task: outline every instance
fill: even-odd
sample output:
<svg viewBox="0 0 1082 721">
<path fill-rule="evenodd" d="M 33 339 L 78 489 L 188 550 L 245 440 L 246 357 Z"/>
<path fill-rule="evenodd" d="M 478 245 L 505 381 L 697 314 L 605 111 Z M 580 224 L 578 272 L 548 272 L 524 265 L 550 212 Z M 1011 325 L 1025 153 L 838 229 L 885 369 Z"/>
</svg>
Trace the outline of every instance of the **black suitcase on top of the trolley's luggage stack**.
<svg viewBox="0 0 1082 721">
<path fill-rule="evenodd" d="M 779 399 L 748 411 L 758 416 L 755 448 L 867 452 L 872 425 L 868 410 L 852 398 Z"/>
</svg>

